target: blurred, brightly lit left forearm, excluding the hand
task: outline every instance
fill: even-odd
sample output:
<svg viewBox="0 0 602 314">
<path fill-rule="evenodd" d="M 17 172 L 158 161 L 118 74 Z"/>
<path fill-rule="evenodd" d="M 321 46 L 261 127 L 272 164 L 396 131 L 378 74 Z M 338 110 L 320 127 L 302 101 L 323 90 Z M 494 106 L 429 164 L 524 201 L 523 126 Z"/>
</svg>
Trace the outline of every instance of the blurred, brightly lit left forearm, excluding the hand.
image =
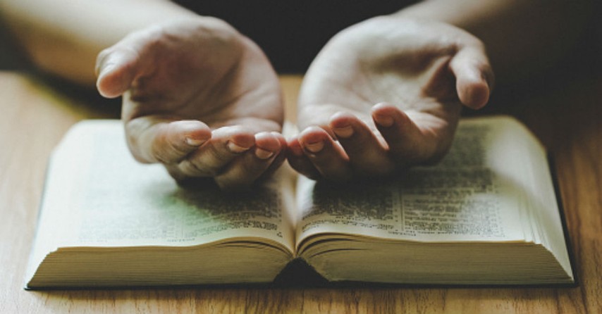
<svg viewBox="0 0 602 314">
<path fill-rule="evenodd" d="M 0 0 L 0 15 L 35 65 L 92 87 L 102 49 L 133 30 L 193 13 L 169 1 Z"/>
</svg>

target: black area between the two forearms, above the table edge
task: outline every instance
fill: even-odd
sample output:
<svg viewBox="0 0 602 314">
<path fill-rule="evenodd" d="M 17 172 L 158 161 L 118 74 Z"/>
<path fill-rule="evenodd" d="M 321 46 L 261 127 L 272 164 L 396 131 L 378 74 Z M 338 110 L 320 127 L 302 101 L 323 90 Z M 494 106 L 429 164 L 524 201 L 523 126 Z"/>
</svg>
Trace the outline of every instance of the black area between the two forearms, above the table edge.
<svg viewBox="0 0 602 314">
<path fill-rule="evenodd" d="M 176 1 L 199 15 L 226 20 L 264 49 L 278 73 L 304 73 L 328 39 L 340 30 L 376 15 L 394 13 L 412 2 Z"/>
</svg>

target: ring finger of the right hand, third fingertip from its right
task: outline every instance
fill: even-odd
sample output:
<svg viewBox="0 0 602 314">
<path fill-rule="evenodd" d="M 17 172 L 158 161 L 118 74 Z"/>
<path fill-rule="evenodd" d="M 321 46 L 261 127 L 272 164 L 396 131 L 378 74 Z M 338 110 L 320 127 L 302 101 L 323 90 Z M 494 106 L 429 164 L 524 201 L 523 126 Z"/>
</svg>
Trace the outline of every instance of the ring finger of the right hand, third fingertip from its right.
<svg viewBox="0 0 602 314">
<path fill-rule="evenodd" d="M 305 156 L 318 170 L 321 177 L 344 182 L 352 177 L 349 158 L 321 127 L 308 127 L 299 134 L 299 142 Z"/>
</svg>

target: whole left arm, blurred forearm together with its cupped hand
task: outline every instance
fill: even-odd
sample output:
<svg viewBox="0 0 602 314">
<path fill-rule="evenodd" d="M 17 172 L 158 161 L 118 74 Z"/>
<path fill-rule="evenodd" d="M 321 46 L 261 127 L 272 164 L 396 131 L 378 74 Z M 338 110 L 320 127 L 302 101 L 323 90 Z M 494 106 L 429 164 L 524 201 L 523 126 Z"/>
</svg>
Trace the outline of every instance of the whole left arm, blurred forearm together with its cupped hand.
<svg viewBox="0 0 602 314">
<path fill-rule="evenodd" d="M 223 189 L 248 187 L 283 162 L 278 76 L 231 25 L 159 0 L 0 1 L 36 65 L 123 96 L 138 161 Z"/>
</svg>

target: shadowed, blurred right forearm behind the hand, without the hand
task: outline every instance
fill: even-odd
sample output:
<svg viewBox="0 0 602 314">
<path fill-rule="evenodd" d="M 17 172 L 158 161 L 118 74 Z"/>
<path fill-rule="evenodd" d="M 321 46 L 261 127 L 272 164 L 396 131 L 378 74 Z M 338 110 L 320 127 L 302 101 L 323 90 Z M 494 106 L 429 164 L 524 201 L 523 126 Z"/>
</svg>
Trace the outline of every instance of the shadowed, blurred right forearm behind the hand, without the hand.
<svg viewBox="0 0 602 314">
<path fill-rule="evenodd" d="M 524 77 L 558 60 L 582 29 L 591 1 L 427 0 L 396 13 L 460 27 L 484 42 L 496 77 Z"/>
</svg>

